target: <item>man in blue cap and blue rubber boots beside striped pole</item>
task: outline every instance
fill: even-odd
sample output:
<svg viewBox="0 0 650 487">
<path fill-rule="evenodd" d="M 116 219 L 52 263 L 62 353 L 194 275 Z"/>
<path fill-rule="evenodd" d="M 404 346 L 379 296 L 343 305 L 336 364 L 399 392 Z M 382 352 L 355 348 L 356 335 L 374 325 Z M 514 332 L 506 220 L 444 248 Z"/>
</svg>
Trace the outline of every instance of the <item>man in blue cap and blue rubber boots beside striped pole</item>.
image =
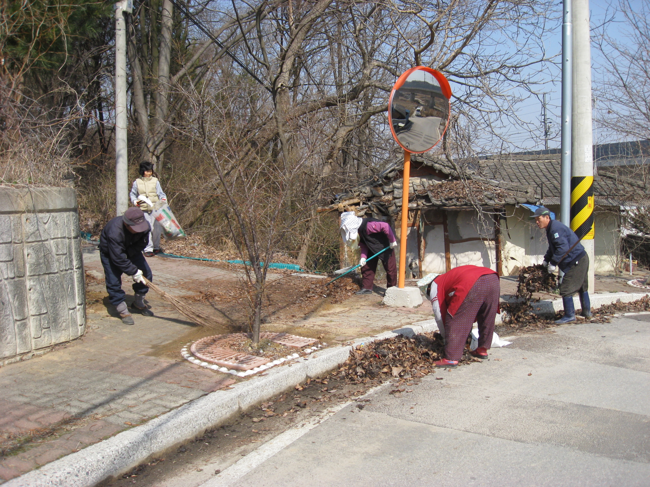
<svg viewBox="0 0 650 487">
<path fill-rule="evenodd" d="M 575 321 L 573 295 L 578 293 L 581 315 L 591 318 L 591 303 L 588 293 L 589 256 L 580 243 L 578 236 L 561 221 L 551 219 L 551 210 L 539 206 L 530 217 L 534 218 L 539 229 L 546 230 L 549 249 L 544 255 L 543 266 L 549 272 L 560 268 L 564 272 L 560 284 L 560 296 L 564 305 L 564 316 L 555 321 L 558 325 Z"/>
</svg>

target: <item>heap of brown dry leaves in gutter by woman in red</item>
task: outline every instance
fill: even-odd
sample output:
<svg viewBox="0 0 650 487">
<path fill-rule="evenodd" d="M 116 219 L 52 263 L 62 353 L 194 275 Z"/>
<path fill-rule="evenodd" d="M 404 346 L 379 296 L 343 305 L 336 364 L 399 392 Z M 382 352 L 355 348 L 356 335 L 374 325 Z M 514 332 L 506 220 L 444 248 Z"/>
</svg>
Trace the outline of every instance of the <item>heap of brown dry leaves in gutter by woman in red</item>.
<svg viewBox="0 0 650 487">
<path fill-rule="evenodd" d="M 417 379 L 435 370 L 434 362 L 443 357 L 444 348 L 438 332 L 365 343 L 350 351 L 348 360 L 331 377 L 354 383 Z M 466 353 L 461 363 L 474 361 L 478 359 Z"/>
</svg>

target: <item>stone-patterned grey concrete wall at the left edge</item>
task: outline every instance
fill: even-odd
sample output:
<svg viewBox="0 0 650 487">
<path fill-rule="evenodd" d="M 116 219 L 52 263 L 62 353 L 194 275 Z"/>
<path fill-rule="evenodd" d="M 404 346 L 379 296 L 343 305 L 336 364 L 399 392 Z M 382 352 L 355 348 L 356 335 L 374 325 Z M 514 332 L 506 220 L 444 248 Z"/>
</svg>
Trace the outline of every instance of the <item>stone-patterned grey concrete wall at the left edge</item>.
<svg viewBox="0 0 650 487">
<path fill-rule="evenodd" d="M 86 331 L 72 188 L 0 186 L 0 364 Z"/>
</svg>

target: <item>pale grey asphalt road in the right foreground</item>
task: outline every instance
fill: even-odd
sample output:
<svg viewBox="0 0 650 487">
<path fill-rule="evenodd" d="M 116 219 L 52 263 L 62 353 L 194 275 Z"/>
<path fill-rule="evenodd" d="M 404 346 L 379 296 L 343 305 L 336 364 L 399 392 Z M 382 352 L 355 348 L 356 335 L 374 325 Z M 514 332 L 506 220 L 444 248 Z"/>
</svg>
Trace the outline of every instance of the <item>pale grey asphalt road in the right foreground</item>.
<svg viewBox="0 0 650 487">
<path fill-rule="evenodd" d="M 649 373 L 650 315 L 527 334 L 203 486 L 648 486 Z"/>
</svg>

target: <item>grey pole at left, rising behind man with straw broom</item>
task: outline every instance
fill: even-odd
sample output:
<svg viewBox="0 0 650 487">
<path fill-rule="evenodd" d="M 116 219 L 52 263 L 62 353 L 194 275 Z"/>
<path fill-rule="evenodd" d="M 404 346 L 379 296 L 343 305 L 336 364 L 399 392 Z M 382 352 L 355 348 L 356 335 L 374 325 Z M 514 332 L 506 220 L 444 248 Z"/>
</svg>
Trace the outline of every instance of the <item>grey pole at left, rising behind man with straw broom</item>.
<svg viewBox="0 0 650 487">
<path fill-rule="evenodd" d="M 117 216 L 129 207 L 126 107 L 126 21 L 123 2 L 115 4 L 115 203 Z"/>
</svg>

